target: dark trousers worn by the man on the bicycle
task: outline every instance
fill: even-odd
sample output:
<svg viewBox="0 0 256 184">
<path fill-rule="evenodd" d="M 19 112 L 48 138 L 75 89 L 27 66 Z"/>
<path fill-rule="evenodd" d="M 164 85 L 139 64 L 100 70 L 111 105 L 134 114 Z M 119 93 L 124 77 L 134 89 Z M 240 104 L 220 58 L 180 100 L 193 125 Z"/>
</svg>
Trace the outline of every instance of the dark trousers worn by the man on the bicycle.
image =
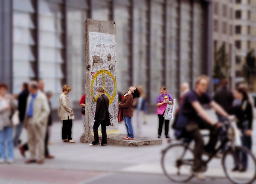
<svg viewBox="0 0 256 184">
<path fill-rule="evenodd" d="M 202 171 L 203 161 L 202 154 L 205 150 L 208 153 L 212 153 L 215 149 L 215 146 L 218 142 L 218 133 L 220 129 L 215 126 L 205 122 L 201 118 L 198 118 L 196 121 L 189 122 L 185 125 L 186 132 L 188 136 L 195 141 L 194 147 L 194 164 L 192 170 L 195 172 Z M 201 136 L 200 130 L 207 129 L 210 130 L 210 139 L 208 144 L 204 147 L 204 139 Z"/>
</svg>

